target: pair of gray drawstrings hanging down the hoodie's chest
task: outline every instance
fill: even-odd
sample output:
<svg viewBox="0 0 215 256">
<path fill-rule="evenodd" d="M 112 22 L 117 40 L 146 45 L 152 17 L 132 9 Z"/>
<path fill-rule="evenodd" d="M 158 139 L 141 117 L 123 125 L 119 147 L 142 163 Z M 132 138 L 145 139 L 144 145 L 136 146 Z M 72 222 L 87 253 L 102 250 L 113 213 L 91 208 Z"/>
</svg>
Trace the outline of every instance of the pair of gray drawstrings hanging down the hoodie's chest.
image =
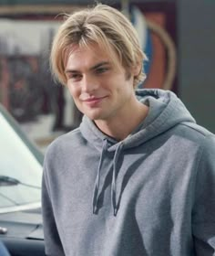
<svg viewBox="0 0 215 256">
<path fill-rule="evenodd" d="M 116 186 L 116 179 L 117 179 L 117 163 L 118 163 L 118 156 L 120 155 L 121 149 L 123 144 L 118 144 L 118 148 L 116 149 L 114 159 L 113 159 L 113 174 L 112 174 L 112 182 L 111 182 L 111 199 L 112 199 L 112 206 L 114 211 L 114 216 L 118 213 L 118 199 L 117 199 L 117 186 Z M 93 214 L 97 213 L 98 210 L 98 199 L 99 199 L 99 186 L 100 186 L 100 175 L 101 175 L 101 168 L 102 163 L 104 160 L 105 152 L 107 151 L 107 139 L 103 141 L 102 145 L 102 152 L 99 159 L 99 164 L 97 167 L 97 178 L 93 193 Z"/>
</svg>

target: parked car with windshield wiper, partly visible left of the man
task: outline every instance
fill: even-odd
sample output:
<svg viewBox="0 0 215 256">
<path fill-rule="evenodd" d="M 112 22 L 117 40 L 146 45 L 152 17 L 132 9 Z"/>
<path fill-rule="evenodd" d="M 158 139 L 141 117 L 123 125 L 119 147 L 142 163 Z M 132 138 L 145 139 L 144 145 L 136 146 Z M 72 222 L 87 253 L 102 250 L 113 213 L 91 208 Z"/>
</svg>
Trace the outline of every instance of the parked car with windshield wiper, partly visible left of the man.
<svg viewBox="0 0 215 256">
<path fill-rule="evenodd" d="M 0 104 L 0 240 L 11 255 L 45 255 L 43 154 Z"/>
</svg>

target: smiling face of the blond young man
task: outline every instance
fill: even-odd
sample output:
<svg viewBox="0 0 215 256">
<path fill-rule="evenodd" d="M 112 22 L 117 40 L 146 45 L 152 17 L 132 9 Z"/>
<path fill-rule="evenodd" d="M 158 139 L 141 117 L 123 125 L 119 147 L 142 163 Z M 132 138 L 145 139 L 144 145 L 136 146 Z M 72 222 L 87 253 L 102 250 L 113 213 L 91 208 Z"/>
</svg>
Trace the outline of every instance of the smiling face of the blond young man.
<svg viewBox="0 0 215 256">
<path fill-rule="evenodd" d="M 88 118 L 108 122 L 126 115 L 135 97 L 135 74 L 128 76 L 120 64 L 116 67 L 104 49 L 73 47 L 65 71 L 68 90 Z"/>
</svg>

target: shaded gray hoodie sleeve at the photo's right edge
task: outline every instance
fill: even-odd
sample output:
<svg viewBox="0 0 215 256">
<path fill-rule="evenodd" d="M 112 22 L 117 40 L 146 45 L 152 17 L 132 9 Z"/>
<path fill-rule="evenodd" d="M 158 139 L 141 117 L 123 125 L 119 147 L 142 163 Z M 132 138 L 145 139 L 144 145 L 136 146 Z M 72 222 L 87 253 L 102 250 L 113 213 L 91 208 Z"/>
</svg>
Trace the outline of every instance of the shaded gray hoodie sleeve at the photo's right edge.
<svg viewBox="0 0 215 256">
<path fill-rule="evenodd" d="M 192 233 L 197 256 L 215 255 L 215 136 L 208 135 L 198 163 Z"/>
</svg>

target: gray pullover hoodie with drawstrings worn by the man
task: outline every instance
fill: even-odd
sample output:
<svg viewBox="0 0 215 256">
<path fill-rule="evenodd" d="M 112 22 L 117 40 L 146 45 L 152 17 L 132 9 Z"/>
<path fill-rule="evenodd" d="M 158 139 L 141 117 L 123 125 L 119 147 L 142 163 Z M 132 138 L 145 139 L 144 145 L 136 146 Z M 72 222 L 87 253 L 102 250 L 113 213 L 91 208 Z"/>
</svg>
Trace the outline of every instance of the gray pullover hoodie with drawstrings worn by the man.
<svg viewBox="0 0 215 256">
<path fill-rule="evenodd" d="M 215 255 L 215 136 L 174 93 L 137 97 L 148 116 L 123 141 L 84 116 L 48 147 L 47 255 Z"/>
</svg>

